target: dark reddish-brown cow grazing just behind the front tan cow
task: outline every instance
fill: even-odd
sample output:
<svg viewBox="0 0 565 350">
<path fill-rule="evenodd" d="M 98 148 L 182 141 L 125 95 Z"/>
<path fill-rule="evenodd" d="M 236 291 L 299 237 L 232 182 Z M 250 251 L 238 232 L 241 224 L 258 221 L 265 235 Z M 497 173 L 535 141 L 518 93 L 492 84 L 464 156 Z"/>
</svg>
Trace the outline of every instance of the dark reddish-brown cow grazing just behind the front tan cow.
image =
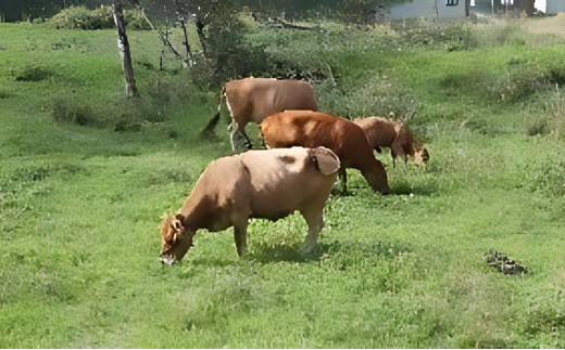
<svg viewBox="0 0 565 350">
<path fill-rule="evenodd" d="M 354 122 L 321 112 L 285 111 L 266 117 L 260 126 L 269 148 L 324 146 L 341 163 L 340 174 L 347 192 L 346 168 L 361 171 L 374 191 L 388 193 L 387 171 L 375 158 L 367 138 Z"/>
</svg>

